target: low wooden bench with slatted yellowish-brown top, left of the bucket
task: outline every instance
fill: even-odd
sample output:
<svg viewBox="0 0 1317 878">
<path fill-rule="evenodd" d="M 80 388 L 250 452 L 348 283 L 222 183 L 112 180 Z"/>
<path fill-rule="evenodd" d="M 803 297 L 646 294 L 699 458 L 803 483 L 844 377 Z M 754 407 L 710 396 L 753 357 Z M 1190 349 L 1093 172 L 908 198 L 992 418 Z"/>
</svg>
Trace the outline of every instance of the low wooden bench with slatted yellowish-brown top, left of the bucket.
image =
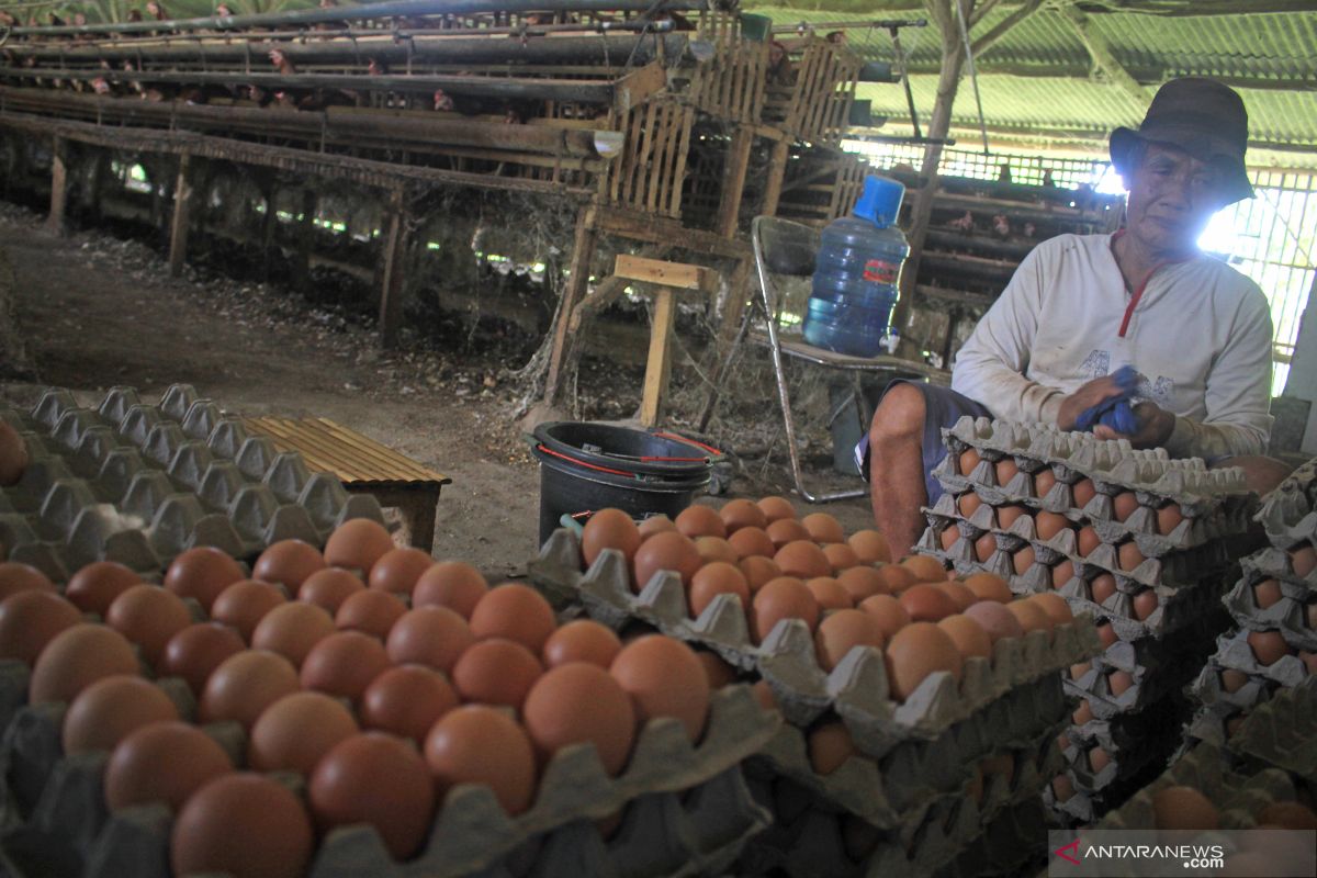
<svg viewBox="0 0 1317 878">
<path fill-rule="evenodd" d="M 249 417 L 246 426 L 281 452 L 300 453 L 309 470 L 332 473 L 348 491 L 396 507 L 410 542 L 433 552 L 439 492 L 453 479 L 327 417 Z"/>
</svg>

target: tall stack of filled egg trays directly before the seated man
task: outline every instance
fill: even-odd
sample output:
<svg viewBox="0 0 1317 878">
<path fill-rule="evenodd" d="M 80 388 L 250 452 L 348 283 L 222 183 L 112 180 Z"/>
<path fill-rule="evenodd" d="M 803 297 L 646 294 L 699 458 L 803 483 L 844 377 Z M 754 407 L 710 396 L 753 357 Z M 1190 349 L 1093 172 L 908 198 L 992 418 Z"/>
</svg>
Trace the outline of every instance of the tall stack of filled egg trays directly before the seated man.
<svg viewBox="0 0 1317 878">
<path fill-rule="evenodd" d="M 1187 711 L 1177 692 L 1227 624 L 1214 611 L 1249 546 L 1255 498 L 1239 470 L 1123 440 L 971 417 L 943 437 L 948 454 L 934 473 L 946 494 L 925 509 L 918 550 L 963 574 L 1000 575 L 1015 594 L 1055 591 L 1102 620 L 1106 649 L 1067 673 L 1067 692 L 1084 704 L 1065 732 L 1069 766 L 1046 794 L 1063 821 L 1092 821 L 1175 749 Z M 1089 486 L 1080 504 L 1076 487 Z M 1137 505 L 1118 515 L 1117 498 L 1130 495 Z M 1079 528 L 1096 537 L 1087 554 Z M 1093 594 L 1098 578 L 1110 594 Z"/>
</svg>

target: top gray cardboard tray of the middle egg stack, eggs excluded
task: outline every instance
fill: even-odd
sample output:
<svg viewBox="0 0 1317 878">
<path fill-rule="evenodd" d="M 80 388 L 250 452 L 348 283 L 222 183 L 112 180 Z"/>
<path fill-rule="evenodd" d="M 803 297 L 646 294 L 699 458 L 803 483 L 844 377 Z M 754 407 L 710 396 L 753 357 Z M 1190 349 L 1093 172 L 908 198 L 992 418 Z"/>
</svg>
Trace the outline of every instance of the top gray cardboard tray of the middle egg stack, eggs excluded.
<svg viewBox="0 0 1317 878">
<path fill-rule="evenodd" d="M 932 740 L 1017 686 L 1098 652 L 1092 620 L 1076 619 L 1055 637 L 1033 632 L 1000 640 L 992 662 L 965 662 L 959 687 L 950 674 L 939 671 L 903 703 L 896 703 L 888 698 L 881 650 L 857 646 L 826 673 L 803 621 L 785 619 L 755 645 L 734 595 L 718 596 L 691 620 L 678 574 L 658 571 L 636 595 L 626 558 L 615 549 L 605 549 L 582 574 L 579 541 L 568 529 L 549 537 L 528 573 L 556 607 L 579 603 L 593 619 L 615 629 L 639 619 L 670 637 L 712 649 L 732 666 L 759 671 L 794 725 L 809 725 L 828 708 L 835 710 L 856 746 L 873 757 L 906 740 Z"/>
</svg>

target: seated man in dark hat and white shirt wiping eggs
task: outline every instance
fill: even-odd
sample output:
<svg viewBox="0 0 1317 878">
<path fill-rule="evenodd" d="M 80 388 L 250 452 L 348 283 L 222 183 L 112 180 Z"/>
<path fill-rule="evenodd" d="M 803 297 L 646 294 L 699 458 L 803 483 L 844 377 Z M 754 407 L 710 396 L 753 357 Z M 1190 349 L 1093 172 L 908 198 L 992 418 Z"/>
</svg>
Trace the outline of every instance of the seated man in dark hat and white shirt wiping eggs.
<svg viewBox="0 0 1317 878">
<path fill-rule="evenodd" d="M 1234 91 L 1168 82 L 1138 130 L 1112 134 L 1125 228 L 1034 249 L 961 348 L 951 390 L 888 388 L 867 438 L 873 513 L 893 553 L 910 550 L 919 507 L 942 494 L 930 474 L 946 454 L 942 428 L 972 415 L 1076 429 L 1126 392 L 1123 366 L 1137 373 L 1137 424 L 1098 424 L 1094 436 L 1241 466 L 1255 491 L 1285 477 L 1260 457 L 1272 423 L 1267 297 L 1196 244 L 1217 211 L 1252 197 L 1247 141 Z"/>
</svg>

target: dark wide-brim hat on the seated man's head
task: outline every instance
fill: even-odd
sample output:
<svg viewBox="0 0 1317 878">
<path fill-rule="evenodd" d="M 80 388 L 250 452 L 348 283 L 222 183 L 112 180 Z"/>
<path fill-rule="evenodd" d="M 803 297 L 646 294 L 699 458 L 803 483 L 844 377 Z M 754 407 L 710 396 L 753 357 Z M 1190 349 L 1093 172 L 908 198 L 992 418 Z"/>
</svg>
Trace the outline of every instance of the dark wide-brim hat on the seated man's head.
<svg viewBox="0 0 1317 878">
<path fill-rule="evenodd" d="M 1162 86 L 1138 130 L 1112 132 L 1112 165 L 1123 176 L 1135 141 L 1167 143 L 1193 158 L 1220 167 L 1226 174 L 1229 201 L 1252 197 L 1252 184 L 1243 165 L 1249 149 L 1249 112 L 1243 99 L 1214 79 L 1187 76 Z"/>
</svg>

